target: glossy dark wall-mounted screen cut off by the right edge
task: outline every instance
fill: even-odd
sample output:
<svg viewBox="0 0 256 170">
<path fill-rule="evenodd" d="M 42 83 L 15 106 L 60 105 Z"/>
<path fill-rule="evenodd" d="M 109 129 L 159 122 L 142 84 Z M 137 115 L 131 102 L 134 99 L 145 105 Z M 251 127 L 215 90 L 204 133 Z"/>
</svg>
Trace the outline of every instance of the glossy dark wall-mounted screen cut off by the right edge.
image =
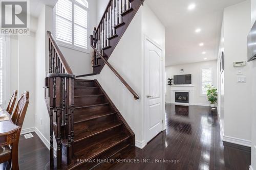
<svg viewBox="0 0 256 170">
<path fill-rule="evenodd" d="M 254 25 L 248 34 L 247 40 L 248 61 L 252 61 L 256 59 L 256 22 L 254 22 Z"/>
</svg>

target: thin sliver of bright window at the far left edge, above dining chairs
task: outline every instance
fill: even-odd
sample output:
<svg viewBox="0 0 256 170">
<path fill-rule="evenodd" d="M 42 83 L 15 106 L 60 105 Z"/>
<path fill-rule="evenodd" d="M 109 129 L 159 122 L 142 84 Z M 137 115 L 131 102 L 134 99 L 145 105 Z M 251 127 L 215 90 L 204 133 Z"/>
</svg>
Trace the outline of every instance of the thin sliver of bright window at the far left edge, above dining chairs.
<svg viewBox="0 0 256 170">
<path fill-rule="evenodd" d="M 4 89 L 5 89 L 5 37 L 0 37 L 0 106 L 4 102 Z"/>
</svg>

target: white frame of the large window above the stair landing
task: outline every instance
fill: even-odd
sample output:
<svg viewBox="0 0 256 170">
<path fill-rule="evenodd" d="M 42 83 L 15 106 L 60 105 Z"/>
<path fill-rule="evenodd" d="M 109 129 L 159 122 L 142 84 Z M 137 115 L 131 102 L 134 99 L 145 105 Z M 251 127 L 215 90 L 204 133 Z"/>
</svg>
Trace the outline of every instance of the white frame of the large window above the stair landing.
<svg viewBox="0 0 256 170">
<path fill-rule="evenodd" d="M 75 0 L 68 0 L 72 3 L 72 44 L 69 44 L 69 43 L 66 43 L 66 42 L 63 42 L 63 41 L 59 41 L 59 40 L 56 40 L 58 42 L 58 45 L 59 46 L 63 46 L 63 47 L 66 47 L 66 48 L 70 48 L 72 50 L 76 50 L 76 51 L 80 51 L 80 52 L 83 52 L 83 53 L 88 53 L 90 54 L 89 52 L 89 34 L 88 34 L 88 28 L 89 28 L 89 2 L 88 0 L 87 3 L 88 3 L 88 8 L 84 7 L 83 5 L 79 4 L 78 2 L 76 2 Z M 75 35 L 74 35 L 74 30 L 75 30 L 75 5 L 85 9 L 87 11 L 87 48 L 82 48 L 80 46 L 76 46 L 74 41 L 75 41 Z M 54 29 L 54 37 L 56 38 L 56 5 L 55 7 L 53 8 L 53 29 Z"/>
</svg>

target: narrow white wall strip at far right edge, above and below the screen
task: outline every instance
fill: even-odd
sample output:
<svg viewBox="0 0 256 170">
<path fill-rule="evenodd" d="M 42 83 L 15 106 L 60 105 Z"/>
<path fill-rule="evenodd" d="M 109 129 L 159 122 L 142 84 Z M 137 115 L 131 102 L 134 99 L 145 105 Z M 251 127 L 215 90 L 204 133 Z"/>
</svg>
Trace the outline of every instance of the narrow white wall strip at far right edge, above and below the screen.
<svg viewBox="0 0 256 170">
<path fill-rule="evenodd" d="M 256 0 L 251 0 L 251 26 L 256 21 Z M 253 169 L 256 169 L 256 60 L 251 62 L 251 166 Z M 252 169 L 251 169 L 252 170 Z"/>
</svg>

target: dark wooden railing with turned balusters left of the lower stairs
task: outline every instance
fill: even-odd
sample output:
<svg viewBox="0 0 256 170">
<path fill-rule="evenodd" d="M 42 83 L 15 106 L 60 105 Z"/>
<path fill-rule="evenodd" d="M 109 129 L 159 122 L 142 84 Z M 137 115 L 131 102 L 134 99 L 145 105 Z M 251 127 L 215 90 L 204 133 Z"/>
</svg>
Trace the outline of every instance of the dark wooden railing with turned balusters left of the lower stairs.
<svg viewBox="0 0 256 170">
<path fill-rule="evenodd" d="M 53 132 L 57 142 L 57 168 L 61 167 L 61 140 L 67 141 L 67 162 L 73 158 L 74 142 L 74 79 L 75 75 L 67 63 L 51 32 L 49 37 L 49 107 L 50 107 L 50 165 L 54 166 Z"/>
</svg>

